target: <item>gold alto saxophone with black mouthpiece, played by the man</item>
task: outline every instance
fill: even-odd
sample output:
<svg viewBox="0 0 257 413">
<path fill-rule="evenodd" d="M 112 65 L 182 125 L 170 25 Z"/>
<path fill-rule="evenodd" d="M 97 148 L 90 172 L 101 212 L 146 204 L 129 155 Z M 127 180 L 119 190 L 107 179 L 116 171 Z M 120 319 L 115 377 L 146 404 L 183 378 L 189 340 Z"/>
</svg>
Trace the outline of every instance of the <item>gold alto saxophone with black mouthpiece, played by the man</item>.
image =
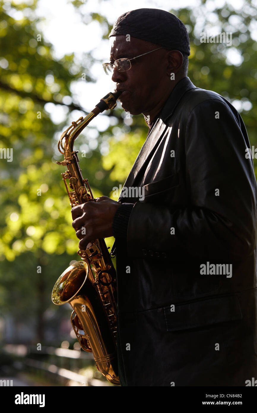
<svg viewBox="0 0 257 413">
<path fill-rule="evenodd" d="M 73 151 L 73 143 L 95 116 L 116 107 L 120 94 L 121 92 L 113 92 L 104 96 L 90 114 L 72 122 L 58 142 L 64 160 L 57 164 L 67 167 L 67 171 L 61 175 L 72 207 L 95 202 L 88 180 L 83 179 L 78 164 L 78 151 Z M 97 369 L 109 382 L 119 385 L 116 349 L 117 285 L 111 254 L 104 239 L 92 240 L 78 254 L 82 261 L 73 263 L 60 275 L 52 291 L 52 301 L 57 305 L 71 305 L 71 324 L 81 348 L 91 351 Z"/>
</svg>

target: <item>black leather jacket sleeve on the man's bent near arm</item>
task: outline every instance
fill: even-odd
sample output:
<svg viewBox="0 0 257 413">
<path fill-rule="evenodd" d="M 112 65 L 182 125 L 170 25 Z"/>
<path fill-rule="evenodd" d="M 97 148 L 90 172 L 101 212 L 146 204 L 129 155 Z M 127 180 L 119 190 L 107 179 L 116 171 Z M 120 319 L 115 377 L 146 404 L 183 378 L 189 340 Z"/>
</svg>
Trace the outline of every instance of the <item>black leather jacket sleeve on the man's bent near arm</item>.
<svg viewBox="0 0 257 413">
<path fill-rule="evenodd" d="M 236 111 L 235 111 L 236 112 Z M 228 104 L 208 100 L 190 113 L 184 133 L 183 176 L 188 202 L 172 206 L 136 202 L 127 229 L 127 253 L 172 253 L 241 259 L 256 243 L 256 179 L 239 114 Z M 243 132 L 242 132 L 243 131 Z M 179 135 L 179 139 L 183 136 Z M 180 146 L 181 147 L 181 146 Z M 174 228 L 172 230 L 172 228 Z M 170 254 L 172 257 L 172 254 Z"/>
</svg>

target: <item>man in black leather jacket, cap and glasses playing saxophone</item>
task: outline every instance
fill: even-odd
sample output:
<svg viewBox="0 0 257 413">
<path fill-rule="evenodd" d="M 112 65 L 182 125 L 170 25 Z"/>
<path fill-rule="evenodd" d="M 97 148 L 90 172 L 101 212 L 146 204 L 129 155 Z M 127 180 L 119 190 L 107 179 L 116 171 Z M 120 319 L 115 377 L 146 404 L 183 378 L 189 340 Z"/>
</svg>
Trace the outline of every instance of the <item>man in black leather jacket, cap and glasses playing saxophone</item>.
<svg viewBox="0 0 257 413">
<path fill-rule="evenodd" d="M 123 187 L 144 197 L 100 197 L 72 215 L 80 248 L 116 238 L 121 385 L 245 386 L 257 379 L 257 184 L 243 120 L 187 77 L 189 37 L 173 14 L 132 10 L 110 38 L 104 67 L 150 128 Z"/>
</svg>

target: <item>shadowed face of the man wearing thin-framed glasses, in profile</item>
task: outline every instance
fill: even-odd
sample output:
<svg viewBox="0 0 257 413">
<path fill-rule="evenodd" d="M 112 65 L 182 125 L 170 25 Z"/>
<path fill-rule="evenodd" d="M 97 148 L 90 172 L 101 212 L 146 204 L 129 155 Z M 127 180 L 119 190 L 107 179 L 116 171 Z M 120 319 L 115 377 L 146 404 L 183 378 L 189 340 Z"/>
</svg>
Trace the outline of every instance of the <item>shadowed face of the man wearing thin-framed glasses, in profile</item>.
<svg viewBox="0 0 257 413">
<path fill-rule="evenodd" d="M 151 43 L 137 38 L 126 36 L 112 36 L 110 62 L 122 57 L 131 59 L 143 53 L 158 48 Z M 160 47 L 160 46 L 159 46 Z M 131 69 L 119 72 L 114 68 L 112 80 L 116 83 L 117 90 L 124 90 L 119 100 L 126 112 L 132 115 L 147 113 L 156 104 L 163 93 L 167 78 L 167 60 L 164 48 L 138 57 L 131 61 Z"/>
</svg>

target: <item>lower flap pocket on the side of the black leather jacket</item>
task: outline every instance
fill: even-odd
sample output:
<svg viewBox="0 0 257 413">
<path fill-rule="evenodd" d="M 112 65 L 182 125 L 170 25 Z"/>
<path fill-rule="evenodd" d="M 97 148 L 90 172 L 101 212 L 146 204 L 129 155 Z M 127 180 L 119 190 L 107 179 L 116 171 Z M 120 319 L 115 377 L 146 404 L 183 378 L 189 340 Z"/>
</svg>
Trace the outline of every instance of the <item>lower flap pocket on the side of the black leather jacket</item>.
<svg viewBox="0 0 257 413">
<path fill-rule="evenodd" d="M 241 320 L 237 295 L 212 297 L 163 307 L 167 331 L 187 330 L 207 325 Z"/>
</svg>

